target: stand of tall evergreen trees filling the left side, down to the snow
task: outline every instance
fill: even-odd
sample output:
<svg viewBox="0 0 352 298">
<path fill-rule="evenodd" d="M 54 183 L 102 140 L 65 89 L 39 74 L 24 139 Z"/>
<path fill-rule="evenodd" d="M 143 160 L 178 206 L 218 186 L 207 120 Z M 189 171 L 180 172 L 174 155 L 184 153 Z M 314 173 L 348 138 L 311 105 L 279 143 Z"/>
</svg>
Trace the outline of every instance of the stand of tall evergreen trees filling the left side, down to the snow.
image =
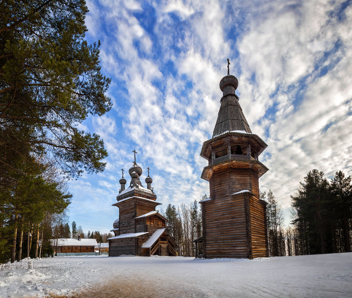
<svg viewBox="0 0 352 298">
<path fill-rule="evenodd" d="M 84 0 L 0 1 L 1 262 L 50 254 L 68 235 L 67 179 L 105 169 L 103 140 L 78 128 L 111 109 L 87 12 Z"/>
</svg>

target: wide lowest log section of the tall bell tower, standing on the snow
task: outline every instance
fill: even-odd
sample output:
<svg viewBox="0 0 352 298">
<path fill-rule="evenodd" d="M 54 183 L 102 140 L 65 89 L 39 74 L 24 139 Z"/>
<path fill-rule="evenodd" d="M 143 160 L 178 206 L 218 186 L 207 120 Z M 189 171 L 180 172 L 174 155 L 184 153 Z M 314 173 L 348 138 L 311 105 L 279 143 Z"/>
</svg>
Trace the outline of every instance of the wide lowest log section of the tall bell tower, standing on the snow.
<svg viewBox="0 0 352 298">
<path fill-rule="evenodd" d="M 266 202 L 251 192 L 202 202 L 204 258 L 268 257 Z"/>
</svg>

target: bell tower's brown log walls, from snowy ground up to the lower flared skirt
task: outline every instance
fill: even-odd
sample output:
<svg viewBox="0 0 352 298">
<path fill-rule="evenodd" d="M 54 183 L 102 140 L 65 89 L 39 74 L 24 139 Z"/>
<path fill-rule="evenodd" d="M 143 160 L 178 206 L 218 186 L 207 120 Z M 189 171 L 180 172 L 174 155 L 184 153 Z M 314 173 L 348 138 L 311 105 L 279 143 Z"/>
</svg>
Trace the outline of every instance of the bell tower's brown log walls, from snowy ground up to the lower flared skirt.
<svg viewBox="0 0 352 298">
<path fill-rule="evenodd" d="M 212 200 L 202 203 L 203 255 L 250 259 L 266 256 L 265 210 L 259 201 L 258 171 L 246 163 L 218 164 L 212 171 Z M 254 196 L 232 196 L 242 190 Z"/>
</svg>

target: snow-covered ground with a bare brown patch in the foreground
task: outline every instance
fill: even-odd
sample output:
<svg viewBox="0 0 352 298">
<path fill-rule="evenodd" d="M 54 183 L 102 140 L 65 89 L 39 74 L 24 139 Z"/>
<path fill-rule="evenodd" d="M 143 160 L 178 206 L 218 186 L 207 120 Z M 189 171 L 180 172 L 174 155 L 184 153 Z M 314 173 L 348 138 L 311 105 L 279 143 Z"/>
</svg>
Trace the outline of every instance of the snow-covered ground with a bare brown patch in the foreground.
<svg viewBox="0 0 352 298">
<path fill-rule="evenodd" d="M 24 259 L 0 273 L 0 297 L 56 295 L 352 297 L 352 253 L 254 260 L 65 256 Z"/>
</svg>

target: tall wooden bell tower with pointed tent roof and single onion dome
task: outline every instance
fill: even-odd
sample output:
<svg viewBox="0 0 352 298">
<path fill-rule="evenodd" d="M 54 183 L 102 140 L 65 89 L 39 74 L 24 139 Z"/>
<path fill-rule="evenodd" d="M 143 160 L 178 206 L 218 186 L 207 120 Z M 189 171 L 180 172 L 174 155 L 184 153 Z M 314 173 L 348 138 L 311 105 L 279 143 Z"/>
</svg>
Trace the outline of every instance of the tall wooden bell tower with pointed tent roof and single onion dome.
<svg viewBox="0 0 352 298">
<path fill-rule="evenodd" d="M 223 95 L 213 137 L 200 154 L 208 160 L 201 178 L 209 182 L 210 198 L 200 201 L 203 236 L 194 242 L 202 242 L 204 258 L 269 256 L 267 203 L 259 199 L 259 178 L 268 168 L 258 160 L 267 145 L 252 133 L 237 87 L 228 66 L 220 81 Z"/>
</svg>

